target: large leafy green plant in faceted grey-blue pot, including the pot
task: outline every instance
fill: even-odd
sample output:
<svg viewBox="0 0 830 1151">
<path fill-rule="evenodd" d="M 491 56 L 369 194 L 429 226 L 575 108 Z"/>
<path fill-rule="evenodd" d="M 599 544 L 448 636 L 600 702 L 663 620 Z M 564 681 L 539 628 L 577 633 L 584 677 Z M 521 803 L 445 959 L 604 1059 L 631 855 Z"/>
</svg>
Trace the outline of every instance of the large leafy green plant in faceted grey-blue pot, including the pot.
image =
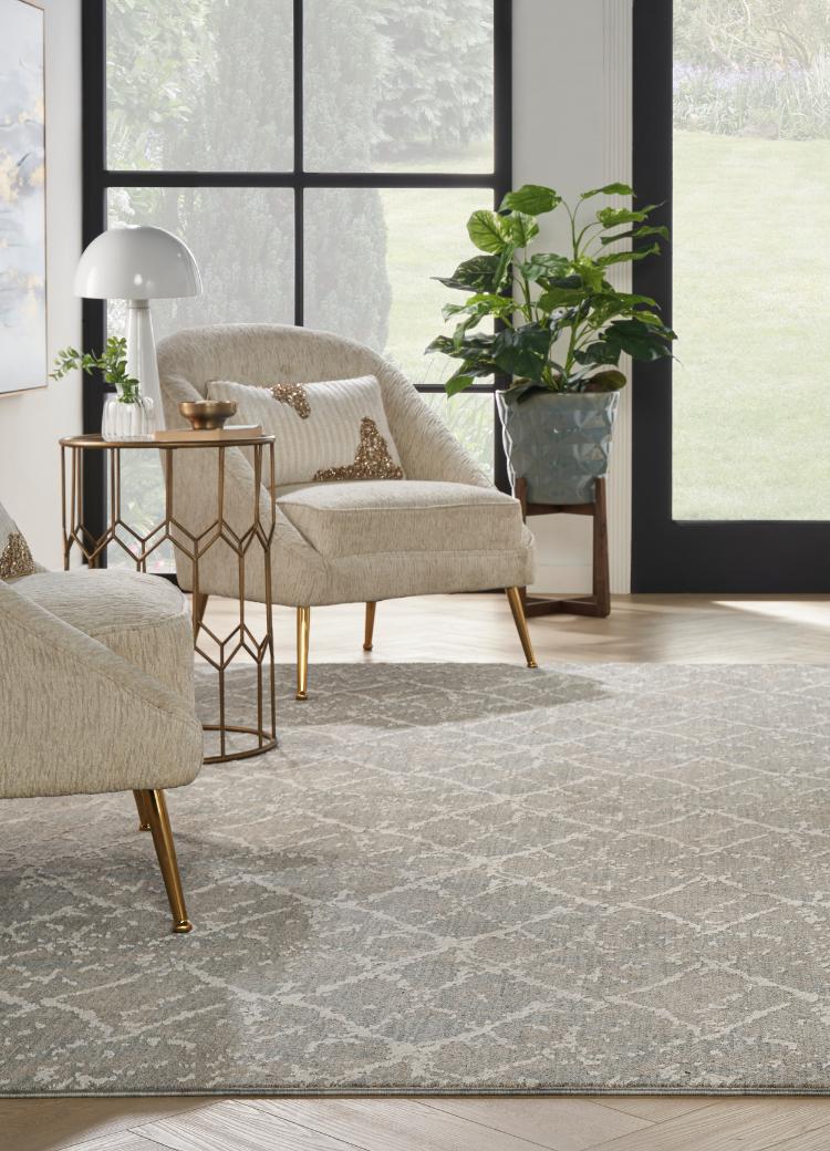
<svg viewBox="0 0 830 1151">
<path fill-rule="evenodd" d="M 498 212 L 473 212 L 467 233 L 482 254 L 437 277 L 467 298 L 444 306 L 455 331 L 427 351 L 460 360 L 448 396 L 481 376 L 513 378 L 496 399 L 510 479 L 513 488 L 525 479 L 533 503 L 593 500 L 594 481 L 608 471 L 618 391 L 626 383 L 620 357 L 671 356 L 676 338 L 655 300 L 618 291 L 607 279 L 615 265 L 657 256 L 669 236 L 648 223 L 654 205 L 594 209 L 592 201 L 611 196 L 633 191 L 608 184 L 571 206 L 553 188 L 525 184 L 504 197 Z M 570 250 L 531 251 L 538 218 L 557 208 L 570 220 Z M 619 241 L 633 246 L 619 250 Z M 481 330 L 493 320 L 498 330 Z"/>
</svg>

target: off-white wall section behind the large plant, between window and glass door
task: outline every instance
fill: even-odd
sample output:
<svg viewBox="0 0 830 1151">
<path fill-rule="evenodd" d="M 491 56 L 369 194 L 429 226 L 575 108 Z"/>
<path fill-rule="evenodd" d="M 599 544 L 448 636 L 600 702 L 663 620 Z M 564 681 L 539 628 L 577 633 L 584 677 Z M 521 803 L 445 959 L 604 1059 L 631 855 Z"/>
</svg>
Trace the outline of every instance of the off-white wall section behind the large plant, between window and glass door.
<svg viewBox="0 0 830 1151">
<path fill-rule="evenodd" d="M 513 185 L 548 184 L 566 198 L 631 176 L 631 0 L 513 0 Z M 562 250 L 564 216 L 540 243 Z M 630 587 L 630 396 L 609 485 L 611 585 Z M 591 520 L 534 518 L 547 592 L 591 589 Z"/>
</svg>

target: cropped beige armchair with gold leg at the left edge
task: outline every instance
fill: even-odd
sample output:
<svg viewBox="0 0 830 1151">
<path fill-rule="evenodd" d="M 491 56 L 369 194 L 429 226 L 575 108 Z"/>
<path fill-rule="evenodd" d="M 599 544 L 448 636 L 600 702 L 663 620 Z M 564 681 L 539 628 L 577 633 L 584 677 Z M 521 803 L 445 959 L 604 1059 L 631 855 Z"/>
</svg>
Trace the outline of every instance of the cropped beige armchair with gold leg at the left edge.
<svg viewBox="0 0 830 1151">
<path fill-rule="evenodd" d="M 0 580 L 0 798 L 132 791 L 173 913 L 191 929 L 165 788 L 203 757 L 188 602 L 134 572 Z"/>
</svg>

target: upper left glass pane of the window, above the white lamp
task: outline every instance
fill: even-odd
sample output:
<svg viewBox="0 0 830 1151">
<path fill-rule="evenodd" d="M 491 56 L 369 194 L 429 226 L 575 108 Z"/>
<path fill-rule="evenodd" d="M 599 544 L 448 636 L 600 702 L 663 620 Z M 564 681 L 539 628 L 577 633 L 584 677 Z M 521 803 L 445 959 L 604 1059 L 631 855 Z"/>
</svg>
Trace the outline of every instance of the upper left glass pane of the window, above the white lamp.
<svg viewBox="0 0 830 1151">
<path fill-rule="evenodd" d="M 294 166 L 291 0 L 107 0 L 107 166 Z"/>
</svg>

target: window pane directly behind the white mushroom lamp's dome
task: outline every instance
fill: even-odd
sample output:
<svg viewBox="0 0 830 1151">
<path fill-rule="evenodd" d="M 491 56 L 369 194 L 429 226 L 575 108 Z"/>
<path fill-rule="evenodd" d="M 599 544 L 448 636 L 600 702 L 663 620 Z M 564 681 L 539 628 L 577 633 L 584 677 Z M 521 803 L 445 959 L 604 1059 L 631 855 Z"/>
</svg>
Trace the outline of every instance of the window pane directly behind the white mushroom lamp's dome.
<svg viewBox="0 0 830 1151">
<path fill-rule="evenodd" d="M 294 322 L 294 195 L 282 188 L 113 188 L 109 224 L 150 223 L 180 236 L 204 294 L 154 300 L 157 338 L 201 323 Z M 111 331 L 124 304 L 109 304 Z"/>
</svg>

